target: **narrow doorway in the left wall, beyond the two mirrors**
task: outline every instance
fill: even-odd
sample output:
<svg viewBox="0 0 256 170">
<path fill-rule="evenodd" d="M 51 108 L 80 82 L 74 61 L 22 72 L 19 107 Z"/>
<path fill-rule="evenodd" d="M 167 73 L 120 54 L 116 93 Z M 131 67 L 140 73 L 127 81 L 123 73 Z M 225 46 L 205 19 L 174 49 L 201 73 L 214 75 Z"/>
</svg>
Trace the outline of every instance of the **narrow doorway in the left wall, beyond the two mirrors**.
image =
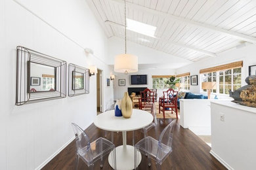
<svg viewBox="0 0 256 170">
<path fill-rule="evenodd" d="M 98 69 L 96 80 L 96 89 L 97 89 L 97 114 L 102 112 L 102 71 Z"/>
</svg>

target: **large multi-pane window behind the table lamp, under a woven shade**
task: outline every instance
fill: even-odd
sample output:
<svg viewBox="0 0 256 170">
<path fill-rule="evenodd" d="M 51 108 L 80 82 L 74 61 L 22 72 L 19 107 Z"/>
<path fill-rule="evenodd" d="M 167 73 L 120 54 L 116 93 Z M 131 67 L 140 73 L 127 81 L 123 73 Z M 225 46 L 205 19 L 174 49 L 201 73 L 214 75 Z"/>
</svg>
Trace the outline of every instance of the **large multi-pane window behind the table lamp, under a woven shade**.
<svg viewBox="0 0 256 170">
<path fill-rule="evenodd" d="M 213 93 L 228 94 L 228 91 L 234 91 L 241 88 L 241 67 L 236 69 L 226 69 L 201 75 L 202 82 L 216 82 L 217 89 Z M 206 92 L 206 90 L 202 90 Z"/>
</svg>

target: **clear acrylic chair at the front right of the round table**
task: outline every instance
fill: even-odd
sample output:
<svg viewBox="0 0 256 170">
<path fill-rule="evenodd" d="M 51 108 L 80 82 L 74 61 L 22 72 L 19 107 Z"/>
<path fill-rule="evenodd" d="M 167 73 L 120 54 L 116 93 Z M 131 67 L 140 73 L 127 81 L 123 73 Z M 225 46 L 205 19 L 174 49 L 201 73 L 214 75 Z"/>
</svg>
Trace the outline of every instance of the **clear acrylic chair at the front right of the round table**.
<svg viewBox="0 0 256 170">
<path fill-rule="evenodd" d="M 168 124 L 161 132 L 159 140 L 152 137 L 145 137 L 139 143 L 135 144 L 135 169 L 139 165 L 139 152 L 148 156 L 148 166 L 151 166 L 151 160 L 156 161 L 157 169 L 161 169 L 161 164 L 173 151 L 171 145 L 173 143 L 173 126 L 175 120 Z"/>
</svg>

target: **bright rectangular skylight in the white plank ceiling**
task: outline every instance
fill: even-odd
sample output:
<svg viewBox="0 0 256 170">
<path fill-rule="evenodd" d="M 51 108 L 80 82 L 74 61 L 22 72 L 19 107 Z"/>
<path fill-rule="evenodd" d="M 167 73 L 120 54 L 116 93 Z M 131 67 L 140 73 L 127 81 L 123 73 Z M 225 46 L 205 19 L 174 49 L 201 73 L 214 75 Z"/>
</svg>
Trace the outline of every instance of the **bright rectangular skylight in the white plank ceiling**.
<svg viewBox="0 0 256 170">
<path fill-rule="evenodd" d="M 135 20 L 126 19 L 127 21 L 127 29 L 131 31 L 135 31 L 137 33 L 141 33 L 143 35 L 147 35 L 149 37 L 155 37 L 156 27 L 148 24 L 144 24 L 142 22 L 137 22 Z"/>
</svg>

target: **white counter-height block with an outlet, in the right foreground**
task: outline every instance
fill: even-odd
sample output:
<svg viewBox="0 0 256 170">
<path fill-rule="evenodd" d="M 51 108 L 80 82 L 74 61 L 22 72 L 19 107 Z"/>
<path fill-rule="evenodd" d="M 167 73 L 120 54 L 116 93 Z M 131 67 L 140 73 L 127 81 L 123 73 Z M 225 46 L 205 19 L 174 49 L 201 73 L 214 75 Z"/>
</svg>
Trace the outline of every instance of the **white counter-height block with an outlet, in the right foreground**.
<svg viewBox="0 0 256 170">
<path fill-rule="evenodd" d="M 256 169 L 256 108 L 211 102 L 211 151 L 228 169 Z"/>
</svg>

